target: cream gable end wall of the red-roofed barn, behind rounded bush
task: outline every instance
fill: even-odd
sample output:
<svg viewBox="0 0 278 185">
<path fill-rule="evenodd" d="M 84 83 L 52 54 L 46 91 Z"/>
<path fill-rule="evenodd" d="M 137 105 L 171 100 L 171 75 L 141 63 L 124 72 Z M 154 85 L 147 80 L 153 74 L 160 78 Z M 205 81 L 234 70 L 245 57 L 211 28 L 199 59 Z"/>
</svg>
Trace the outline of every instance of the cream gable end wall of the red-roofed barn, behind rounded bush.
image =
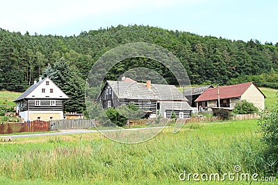
<svg viewBox="0 0 278 185">
<path fill-rule="evenodd" d="M 250 103 L 254 103 L 259 109 L 265 108 L 264 96 L 253 84 L 243 93 L 240 100 L 247 100 Z"/>
</svg>

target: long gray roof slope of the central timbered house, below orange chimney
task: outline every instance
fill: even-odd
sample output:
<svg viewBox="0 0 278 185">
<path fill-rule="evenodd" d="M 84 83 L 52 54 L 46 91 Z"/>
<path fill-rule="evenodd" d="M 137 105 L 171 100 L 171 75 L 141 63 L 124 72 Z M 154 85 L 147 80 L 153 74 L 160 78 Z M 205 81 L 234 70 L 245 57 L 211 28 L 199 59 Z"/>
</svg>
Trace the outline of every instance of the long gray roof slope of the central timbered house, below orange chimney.
<svg viewBox="0 0 278 185">
<path fill-rule="evenodd" d="M 120 99 L 187 100 L 174 85 L 152 84 L 151 89 L 148 89 L 145 83 L 110 80 L 107 82 Z"/>
</svg>

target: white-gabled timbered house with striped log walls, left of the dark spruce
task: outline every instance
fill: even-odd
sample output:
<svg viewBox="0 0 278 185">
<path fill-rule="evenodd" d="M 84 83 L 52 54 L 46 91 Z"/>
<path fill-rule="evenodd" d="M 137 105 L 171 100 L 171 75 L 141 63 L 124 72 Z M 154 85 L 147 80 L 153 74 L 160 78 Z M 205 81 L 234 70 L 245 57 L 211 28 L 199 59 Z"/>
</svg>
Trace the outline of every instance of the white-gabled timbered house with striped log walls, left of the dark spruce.
<svg viewBox="0 0 278 185">
<path fill-rule="evenodd" d="M 35 80 L 14 102 L 16 112 L 24 121 L 63 119 L 63 100 L 69 97 L 49 78 Z"/>
</svg>

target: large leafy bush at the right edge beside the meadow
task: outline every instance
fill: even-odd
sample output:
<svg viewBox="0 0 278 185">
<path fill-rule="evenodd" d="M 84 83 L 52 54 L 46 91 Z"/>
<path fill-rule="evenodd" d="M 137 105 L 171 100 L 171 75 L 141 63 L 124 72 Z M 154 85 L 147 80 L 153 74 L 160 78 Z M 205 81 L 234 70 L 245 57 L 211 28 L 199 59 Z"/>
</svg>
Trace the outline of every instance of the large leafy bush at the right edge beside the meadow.
<svg viewBox="0 0 278 185">
<path fill-rule="evenodd" d="M 278 172 L 278 102 L 275 107 L 270 107 L 261 112 L 259 132 L 261 141 L 266 144 L 264 151 L 265 161 L 268 164 L 268 172 Z"/>
</svg>

